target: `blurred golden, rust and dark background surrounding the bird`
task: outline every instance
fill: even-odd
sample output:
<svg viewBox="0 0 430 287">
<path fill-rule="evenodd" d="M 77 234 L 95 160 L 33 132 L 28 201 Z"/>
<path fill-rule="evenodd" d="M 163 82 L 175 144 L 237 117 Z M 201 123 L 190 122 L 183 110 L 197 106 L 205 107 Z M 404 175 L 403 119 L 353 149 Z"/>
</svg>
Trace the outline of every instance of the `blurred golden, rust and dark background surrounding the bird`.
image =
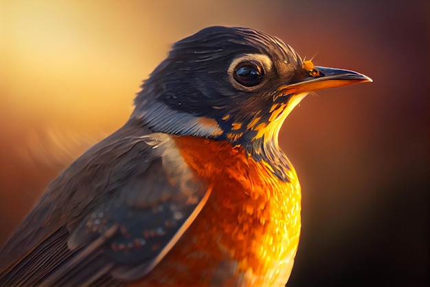
<svg viewBox="0 0 430 287">
<path fill-rule="evenodd" d="M 374 80 L 308 96 L 282 127 L 303 191 L 288 286 L 428 286 L 429 19 L 418 0 L 0 0 L 0 245 L 174 41 L 240 25 Z"/>
</svg>

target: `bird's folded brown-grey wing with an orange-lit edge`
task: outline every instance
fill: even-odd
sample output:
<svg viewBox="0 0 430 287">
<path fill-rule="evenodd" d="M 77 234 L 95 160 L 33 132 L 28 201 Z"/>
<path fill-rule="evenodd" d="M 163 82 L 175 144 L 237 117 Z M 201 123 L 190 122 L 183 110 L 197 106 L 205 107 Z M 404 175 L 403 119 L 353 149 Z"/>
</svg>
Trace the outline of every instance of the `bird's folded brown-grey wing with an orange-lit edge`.
<svg viewBox="0 0 430 287">
<path fill-rule="evenodd" d="M 172 136 L 133 130 L 124 126 L 49 185 L 0 251 L 0 286 L 121 285 L 172 248 L 210 188 Z"/>
</svg>

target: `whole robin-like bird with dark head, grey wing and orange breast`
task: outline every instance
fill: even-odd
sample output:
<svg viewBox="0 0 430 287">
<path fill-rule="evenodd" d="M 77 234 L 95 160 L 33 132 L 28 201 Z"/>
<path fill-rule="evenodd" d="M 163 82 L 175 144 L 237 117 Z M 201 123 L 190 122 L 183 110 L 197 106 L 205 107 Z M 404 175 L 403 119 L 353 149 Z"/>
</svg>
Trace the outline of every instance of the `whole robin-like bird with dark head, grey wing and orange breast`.
<svg viewBox="0 0 430 287">
<path fill-rule="evenodd" d="M 10 236 L 0 286 L 284 286 L 301 190 L 280 127 L 308 92 L 371 81 L 250 28 L 178 41 Z"/>
</svg>

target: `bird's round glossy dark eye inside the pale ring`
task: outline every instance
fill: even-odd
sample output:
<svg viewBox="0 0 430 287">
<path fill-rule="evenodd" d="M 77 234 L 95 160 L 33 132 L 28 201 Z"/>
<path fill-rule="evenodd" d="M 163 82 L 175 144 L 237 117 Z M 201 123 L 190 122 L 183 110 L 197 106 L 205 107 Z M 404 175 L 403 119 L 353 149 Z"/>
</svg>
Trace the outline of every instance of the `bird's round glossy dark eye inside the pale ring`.
<svg viewBox="0 0 430 287">
<path fill-rule="evenodd" d="M 264 70 L 260 63 L 246 61 L 239 63 L 234 68 L 234 79 L 245 87 L 253 87 L 261 83 L 264 76 Z"/>
</svg>

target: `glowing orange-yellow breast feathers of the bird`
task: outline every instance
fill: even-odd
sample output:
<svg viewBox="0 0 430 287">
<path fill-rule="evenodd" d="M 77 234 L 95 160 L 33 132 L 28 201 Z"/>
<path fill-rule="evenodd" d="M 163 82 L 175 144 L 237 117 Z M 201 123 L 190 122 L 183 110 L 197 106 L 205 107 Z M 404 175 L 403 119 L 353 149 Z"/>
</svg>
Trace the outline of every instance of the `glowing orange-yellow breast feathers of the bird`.
<svg viewBox="0 0 430 287">
<path fill-rule="evenodd" d="M 284 286 L 300 231 L 295 171 L 282 182 L 241 147 L 174 137 L 190 167 L 213 189 L 203 210 L 137 286 Z"/>
</svg>

